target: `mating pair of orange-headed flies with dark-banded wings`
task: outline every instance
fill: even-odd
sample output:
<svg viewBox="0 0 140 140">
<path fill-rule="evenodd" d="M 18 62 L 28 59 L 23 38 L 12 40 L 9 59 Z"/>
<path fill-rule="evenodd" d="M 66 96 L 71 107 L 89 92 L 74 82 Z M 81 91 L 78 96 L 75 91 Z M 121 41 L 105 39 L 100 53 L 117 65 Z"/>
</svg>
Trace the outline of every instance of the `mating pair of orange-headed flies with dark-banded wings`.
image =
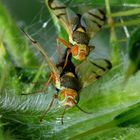
<svg viewBox="0 0 140 140">
<path fill-rule="evenodd" d="M 46 85 L 48 86 L 52 80 L 53 86 L 57 91 L 57 93 L 54 94 L 48 109 L 42 115 L 41 120 L 51 109 L 55 99 L 58 99 L 60 105 L 64 106 L 61 120 L 63 124 L 64 113 L 66 109 L 70 107 L 76 106 L 81 111 L 89 113 L 78 106 L 79 93 L 81 88 L 84 87 L 84 84 L 81 85 L 81 81 L 77 74 L 78 70 L 76 71 L 76 68 L 78 67 L 78 69 L 80 69 L 80 66 L 75 66 L 72 62 L 72 58 L 80 61 L 81 64 L 83 62 L 86 63 L 88 54 L 92 49 L 94 49 L 93 46 L 89 45 L 89 41 L 103 26 L 105 15 L 102 10 L 99 9 L 91 9 L 83 15 L 76 14 L 58 0 L 48 0 L 47 5 L 51 15 L 54 17 L 54 20 L 57 20 L 64 27 L 69 36 L 69 42 L 66 42 L 62 38 L 57 38 L 57 41 L 66 47 L 62 61 L 59 64 L 54 65 L 54 63 L 49 59 L 47 53 L 42 49 L 41 45 L 24 31 L 23 32 L 31 40 L 36 49 L 44 56 L 51 69 L 50 77 Z M 110 61 L 106 59 L 89 62 L 94 66 L 93 68 L 95 68 L 91 71 L 91 75 L 93 74 L 93 80 L 101 77 L 112 67 Z"/>
</svg>

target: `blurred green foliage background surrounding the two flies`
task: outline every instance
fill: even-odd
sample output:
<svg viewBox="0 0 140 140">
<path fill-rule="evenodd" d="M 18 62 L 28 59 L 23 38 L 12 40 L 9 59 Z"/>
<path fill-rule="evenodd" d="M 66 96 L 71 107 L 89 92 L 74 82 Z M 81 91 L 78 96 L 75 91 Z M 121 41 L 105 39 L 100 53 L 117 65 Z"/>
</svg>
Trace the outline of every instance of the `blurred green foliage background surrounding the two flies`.
<svg viewBox="0 0 140 140">
<path fill-rule="evenodd" d="M 42 44 L 54 63 L 57 62 L 56 37 L 65 33 L 57 31 L 45 1 L 1 0 L 0 140 L 138 140 L 139 0 L 64 2 L 76 12 L 93 7 L 106 11 L 108 22 L 91 40 L 96 49 L 89 57 L 108 58 L 113 68 L 80 91 L 79 105 L 93 114 L 71 108 L 61 125 L 63 108 L 55 103 L 45 120 L 39 122 L 55 90 L 50 85 L 46 94 L 21 95 L 43 90 L 40 83 L 48 79 L 50 70 L 20 27 Z M 39 84 L 34 86 L 33 82 Z"/>
</svg>

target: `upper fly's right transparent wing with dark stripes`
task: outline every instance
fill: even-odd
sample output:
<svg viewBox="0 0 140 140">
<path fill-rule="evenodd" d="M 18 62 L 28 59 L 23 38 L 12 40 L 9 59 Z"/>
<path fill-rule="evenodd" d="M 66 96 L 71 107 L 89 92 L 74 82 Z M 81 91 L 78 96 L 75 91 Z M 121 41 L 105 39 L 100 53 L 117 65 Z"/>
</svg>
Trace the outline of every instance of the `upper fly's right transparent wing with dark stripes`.
<svg viewBox="0 0 140 140">
<path fill-rule="evenodd" d="M 102 10 L 91 9 L 81 18 L 81 24 L 86 28 L 90 37 L 94 37 L 105 23 L 105 14 Z"/>
</svg>

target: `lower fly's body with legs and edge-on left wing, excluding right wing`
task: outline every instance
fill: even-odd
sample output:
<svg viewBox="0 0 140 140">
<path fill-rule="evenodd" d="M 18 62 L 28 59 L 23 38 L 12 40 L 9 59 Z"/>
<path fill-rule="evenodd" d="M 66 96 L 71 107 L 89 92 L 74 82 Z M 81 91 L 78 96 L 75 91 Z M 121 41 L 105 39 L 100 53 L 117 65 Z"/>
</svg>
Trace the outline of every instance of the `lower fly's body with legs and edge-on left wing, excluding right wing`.
<svg viewBox="0 0 140 140">
<path fill-rule="evenodd" d="M 89 112 L 86 112 L 78 105 L 79 90 L 81 89 L 81 85 L 78 76 L 75 72 L 75 66 L 71 61 L 72 54 L 69 54 L 67 56 L 66 55 L 67 52 L 66 52 L 62 62 L 60 62 L 55 66 L 54 63 L 48 57 L 47 53 L 45 53 L 45 51 L 42 49 L 41 45 L 36 40 L 32 39 L 24 30 L 22 31 L 30 39 L 30 41 L 33 43 L 35 48 L 39 50 L 40 53 L 44 56 L 45 60 L 47 61 L 51 69 L 51 73 L 46 86 L 48 87 L 50 82 L 52 81 L 52 84 L 57 91 L 57 93 L 53 95 L 53 98 L 48 105 L 48 109 L 40 117 L 40 121 L 42 121 L 46 116 L 46 114 L 50 111 L 56 99 L 58 100 L 60 106 L 64 106 L 64 111 L 61 117 L 62 124 L 63 124 L 63 117 L 65 111 L 73 106 L 76 106 L 79 110 L 81 110 L 84 113 L 90 114 Z M 67 56 L 67 63 L 65 64 L 66 56 Z M 65 67 L 63 67 L 64 64 Z M 59 69 L 61 69 L 61 71 Z"/>
</svg>

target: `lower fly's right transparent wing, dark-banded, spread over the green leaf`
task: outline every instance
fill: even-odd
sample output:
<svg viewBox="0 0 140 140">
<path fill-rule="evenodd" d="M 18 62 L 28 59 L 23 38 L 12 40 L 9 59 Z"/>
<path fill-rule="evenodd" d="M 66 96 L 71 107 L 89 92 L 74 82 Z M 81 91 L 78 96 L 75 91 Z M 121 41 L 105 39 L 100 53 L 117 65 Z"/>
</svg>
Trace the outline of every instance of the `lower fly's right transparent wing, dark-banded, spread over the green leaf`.
<svg viewBox="0 0 140 140">
<path fill-rule="evenodd" d="M 112 64 L 107 59 L 95 59 L 94 61 L 85 60 L 77 66 L 79 80 L 83 87 L 98 80 L 112 68 Z"/>
</svg>

